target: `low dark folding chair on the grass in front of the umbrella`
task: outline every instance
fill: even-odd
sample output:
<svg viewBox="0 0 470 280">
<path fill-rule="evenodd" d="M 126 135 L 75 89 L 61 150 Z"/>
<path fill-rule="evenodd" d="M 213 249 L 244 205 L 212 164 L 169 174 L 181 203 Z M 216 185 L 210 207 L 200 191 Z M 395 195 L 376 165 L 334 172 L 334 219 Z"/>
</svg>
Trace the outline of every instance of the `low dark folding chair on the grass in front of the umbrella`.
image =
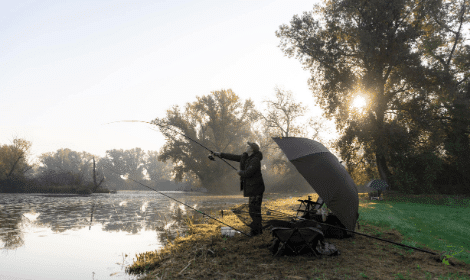
<svg viewBox="0 0 470 280">
<path fill-rule="evenodd" d="M 318 228 L 274 227 L 271 232 L 275 238 L 271 252 L 275 257 L 284 254 L 299 255 L 310 252 L 315 256 L 320 255 L 316 247 L 318 242 L 323 240 L 323 233 Z"/>
</svg>

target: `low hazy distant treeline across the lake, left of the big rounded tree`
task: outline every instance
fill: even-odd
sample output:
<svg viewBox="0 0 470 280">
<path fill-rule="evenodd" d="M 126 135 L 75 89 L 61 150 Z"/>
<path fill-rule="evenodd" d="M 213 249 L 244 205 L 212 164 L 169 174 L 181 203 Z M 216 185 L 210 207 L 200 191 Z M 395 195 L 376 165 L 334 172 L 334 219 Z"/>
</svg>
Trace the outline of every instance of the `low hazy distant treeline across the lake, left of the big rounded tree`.
<svg viewBox="0 0 470 280">
<path fill-rule="evenodd" d="M 31 143 L 13 140 L 0 147 L 0 192 L 82 193 L 112 190 L 148 190 L 133 180 L 159 190 L 175 190 L 182 184 L 169 180 L 169 167 L 157 160 L 157 152 L 108 150 L 105 157 L 59 149 L 28 162 Z"/>
</svg>

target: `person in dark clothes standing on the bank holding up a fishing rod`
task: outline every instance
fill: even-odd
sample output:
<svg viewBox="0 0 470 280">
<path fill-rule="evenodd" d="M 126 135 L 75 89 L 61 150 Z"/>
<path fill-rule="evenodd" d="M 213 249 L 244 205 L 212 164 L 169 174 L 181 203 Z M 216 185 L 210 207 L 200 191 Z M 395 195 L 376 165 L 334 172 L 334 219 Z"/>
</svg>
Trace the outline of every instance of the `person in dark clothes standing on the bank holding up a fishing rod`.
<svg viewBox="0 0 470 280">
<path fill-rule="evenodd" d="M 256 143 L 247 142 L 247 150 L 241 155 L 226 153 L 214 153 L 215 156 L 240 162 L 240 170 L 237 171 L 240 176 L 240 191 L 243 190 L 243 196 L 249 197 L 248 205 L 251 219 L 251 236 L 263 232 L 261 225 L 261 203 L 263 201 L 264 181 L 261 174 L 261 160 L 263 154 L 259 151 Z"/>
</svg>

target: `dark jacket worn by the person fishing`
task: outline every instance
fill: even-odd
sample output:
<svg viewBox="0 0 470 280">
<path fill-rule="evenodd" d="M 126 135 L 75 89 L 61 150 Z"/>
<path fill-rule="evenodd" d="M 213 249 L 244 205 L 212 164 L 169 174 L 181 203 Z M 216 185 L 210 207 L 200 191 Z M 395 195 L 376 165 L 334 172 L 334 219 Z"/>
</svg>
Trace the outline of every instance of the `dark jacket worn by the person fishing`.
<svg viewBox="0 0 470 280">
<path fill-rule="evenodd" d="M 264 181 L 261 175 L 261 160 L 263 154 L 261 152 L 253 153 L 248 156 L 247 153 L 242 155 L 220 154 L 221 158 L 240 162 L 240 191 L 243 190 L 244 197 L 262 195 L 264 192 Z"/>
</svg>

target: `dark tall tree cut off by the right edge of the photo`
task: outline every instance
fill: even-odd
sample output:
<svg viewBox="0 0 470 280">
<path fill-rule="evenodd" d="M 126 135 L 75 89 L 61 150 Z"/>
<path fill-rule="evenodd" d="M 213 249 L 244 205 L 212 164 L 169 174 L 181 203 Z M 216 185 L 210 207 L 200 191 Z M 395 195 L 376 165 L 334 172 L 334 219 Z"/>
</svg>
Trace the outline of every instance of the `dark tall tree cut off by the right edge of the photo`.
<svg viewBox="0 0 470 280">
<path fill-rule="evenodd" d="M 470 23 L 470 1 L 429 1 L 425 19 L 419 48 L 426 86 L 434 95 L 429 111 L 441 127 L 433 137 L 443 140 L 446 177 L 470 192 L 470 45 L 463 32 Z"/>
</svg>

